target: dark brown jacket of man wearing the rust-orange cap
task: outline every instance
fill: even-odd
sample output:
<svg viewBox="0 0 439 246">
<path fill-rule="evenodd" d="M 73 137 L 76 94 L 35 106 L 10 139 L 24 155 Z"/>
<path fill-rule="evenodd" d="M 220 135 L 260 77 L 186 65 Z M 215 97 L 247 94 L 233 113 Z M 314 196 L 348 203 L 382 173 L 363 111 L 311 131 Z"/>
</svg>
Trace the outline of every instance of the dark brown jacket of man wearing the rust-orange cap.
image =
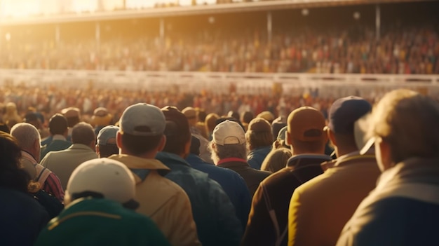
<svg viewBox="0 0 439 246">
<path fill-rule="evenodd" d="M 325 155 L 292 156 L 286 168 L 261 182 L 252 200 L 242 245 L 287 245 L 292 193 L 304 182 L 321 175 L 320 163 L 328 160 L 330 156 Z"/>
</svg>

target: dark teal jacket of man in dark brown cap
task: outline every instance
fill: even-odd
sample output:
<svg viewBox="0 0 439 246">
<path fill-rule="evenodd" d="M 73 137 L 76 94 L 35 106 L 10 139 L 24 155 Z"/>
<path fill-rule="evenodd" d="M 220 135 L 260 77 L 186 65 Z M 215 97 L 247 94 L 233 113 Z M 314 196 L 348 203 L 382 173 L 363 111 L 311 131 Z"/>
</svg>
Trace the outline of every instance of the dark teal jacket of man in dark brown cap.
<svg viewBox="0 0 439 246">
<path fill-rule="evenodd" d="M 170 168 L 165 177 L 180 185 L 189 196 L 201 244 L 239 245 L 243 229 L 221 186 L 173 153 L 157 153 L 156 159 Z"/>
</svg>

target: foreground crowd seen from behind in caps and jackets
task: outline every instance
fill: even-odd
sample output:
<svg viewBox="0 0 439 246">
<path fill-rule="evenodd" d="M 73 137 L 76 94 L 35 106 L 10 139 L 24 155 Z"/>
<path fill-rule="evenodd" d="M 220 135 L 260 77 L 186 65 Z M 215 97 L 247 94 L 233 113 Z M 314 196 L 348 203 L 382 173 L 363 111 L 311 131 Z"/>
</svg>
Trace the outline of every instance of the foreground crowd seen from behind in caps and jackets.
<svg viewBox="0 0 439 246">
<path fill-rule="evenodd" d="M 23 114 L 6 104 L 4 245 L 439 243 L 439 103 L 426 95 L 302 98 L 277 118 L 141 95 L 87 118 L 65 96 L 48 120 L 38 96 Z"/>
</svg>

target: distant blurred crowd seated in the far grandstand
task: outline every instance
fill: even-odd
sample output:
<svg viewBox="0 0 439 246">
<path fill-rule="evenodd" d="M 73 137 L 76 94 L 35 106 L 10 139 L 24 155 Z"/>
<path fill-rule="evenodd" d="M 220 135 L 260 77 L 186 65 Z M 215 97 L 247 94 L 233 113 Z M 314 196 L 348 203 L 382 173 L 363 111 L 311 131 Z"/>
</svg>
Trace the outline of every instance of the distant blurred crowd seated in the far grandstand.
<svg viewBox="0 0 439 246">
<path fill-rule="evenodd" d="M 439 74 L 437 27 L 6 41 L 3 69 Z M 67 55 L 68 54 L 68 55 Z"/>
</svg>

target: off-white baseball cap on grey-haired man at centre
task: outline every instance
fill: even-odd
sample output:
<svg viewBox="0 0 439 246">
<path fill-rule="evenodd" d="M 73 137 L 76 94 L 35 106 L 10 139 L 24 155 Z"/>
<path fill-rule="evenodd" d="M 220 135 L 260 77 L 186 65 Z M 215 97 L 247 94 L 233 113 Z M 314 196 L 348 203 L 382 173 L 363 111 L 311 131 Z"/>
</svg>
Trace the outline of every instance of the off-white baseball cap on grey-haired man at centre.
<svg viewBox="0 0 439 246">
<path fill-rule="evenodd" d="M 212 141 L 215 144 L 243 144 L 245 143 L 244 129 L 234 121 L 224 121 L 213 129 Z"/>
</svg>

